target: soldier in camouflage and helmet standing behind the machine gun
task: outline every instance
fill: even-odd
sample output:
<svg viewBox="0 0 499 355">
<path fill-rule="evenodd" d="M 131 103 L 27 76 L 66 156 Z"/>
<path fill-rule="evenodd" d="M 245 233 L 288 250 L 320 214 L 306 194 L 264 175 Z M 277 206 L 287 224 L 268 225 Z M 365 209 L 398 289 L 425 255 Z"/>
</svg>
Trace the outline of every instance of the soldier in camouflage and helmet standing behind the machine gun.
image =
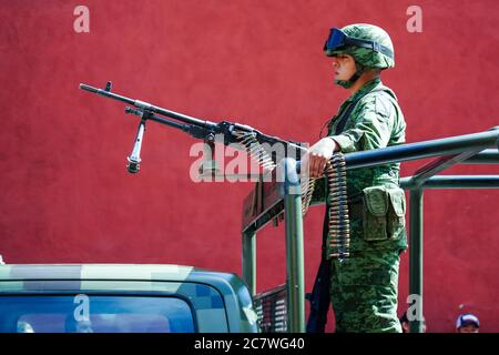
<svg viewBox="0 0 499 355">
<path fill-rule="evenodd" d="M 406 123 L 397 98 L 380 80 L 381 71 L 395 65 L 388 33 L 364 23 L 334 28 L 324 51 L 333 59 L 335 83 L 347 89 L 350 97 L 328 122 L 327 136 L 312 145 L 304 158 L 310 178 L 323 175 L 334 152 L 366 151 L 405 142 Z M 329 256 L 326 213 L 319 270 L 327 272 L 319 274 L 316 283 L 322 278 L 324 286 L 324 280 L 329 280 L 323 290 L 329 292 L 326 300 L 333 303 L 337 332 L 401 332 L 396 313 L 397 285 L 399 254 L 407 247 L 407 241 L 399 170 L 400 164 L 391 163 L 348 171 L 350 256 L 345 261 Z M 323 311 L 328 307 L 329 302 Z M 323 323 L 314 327 L 312 317 L 322 318 Z M 317 317 L 310 313 L 310 318 L 307 331 L 324 331 L 324 314 Z"/>
</svg>

